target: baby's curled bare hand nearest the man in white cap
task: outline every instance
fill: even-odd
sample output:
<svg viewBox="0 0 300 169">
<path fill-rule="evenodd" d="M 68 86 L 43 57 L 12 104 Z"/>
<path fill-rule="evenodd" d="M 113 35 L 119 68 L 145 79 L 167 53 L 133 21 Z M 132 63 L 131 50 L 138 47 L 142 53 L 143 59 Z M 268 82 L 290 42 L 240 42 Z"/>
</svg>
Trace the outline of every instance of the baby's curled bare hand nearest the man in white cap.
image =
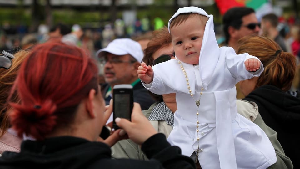
<svg viewBox="0 0 300 169">
<path fill-rule="evenodd" d="M 140 78 L 145 84 L 149 84 L 153 81 L 153 69 L 151 66 L 147 66 L 146 63 L 141 63 L 138 66 L 138 78 Z"/>
</svg>

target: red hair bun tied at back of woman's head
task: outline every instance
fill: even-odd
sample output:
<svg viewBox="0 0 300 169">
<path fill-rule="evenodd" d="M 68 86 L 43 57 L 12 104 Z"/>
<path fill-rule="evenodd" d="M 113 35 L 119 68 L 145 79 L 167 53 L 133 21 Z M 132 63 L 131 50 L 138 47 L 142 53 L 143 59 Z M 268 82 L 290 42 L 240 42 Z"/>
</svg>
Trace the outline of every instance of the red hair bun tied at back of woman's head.
<svg viewBox="0 0 300 169">
<path fill-rule="evenodd" d="M 37 140 L 43 140 L 56 125 L 56 116 L 53 112 L 57 106 L 52 100 L 32 106 L 14 103 L 11 103 L 11 106 L 13 107 L 10 113 L 11 124 L 19 137 L 25 133 Z"/>
</svg>

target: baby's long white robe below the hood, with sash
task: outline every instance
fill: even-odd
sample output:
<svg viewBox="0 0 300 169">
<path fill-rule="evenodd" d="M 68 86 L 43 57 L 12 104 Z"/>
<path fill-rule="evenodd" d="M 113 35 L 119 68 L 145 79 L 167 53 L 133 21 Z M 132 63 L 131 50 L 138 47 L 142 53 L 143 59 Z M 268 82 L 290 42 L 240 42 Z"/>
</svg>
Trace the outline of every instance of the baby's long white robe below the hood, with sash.
<svg viewBox="0 0 300 169">
<path fill-rule="evenodd" d="M 229 47 L 220 48 L 219 57 L 210 82 L 200 99 L 199 153 L 203 169 L 267 168 L 277 161 L 274 148 L 259 126 L 237 113 L 235 84 L 258 76 L 248 72 L 244 61 L 256 58 L 248 54 L 236 55 Z M 199 66 L 182 63 L 187 72 L 190 89 L 196 100 L 200 97 L 202 80 Z M 196 131 L 197 106 L 187 89 L 186 78 L 175 59 L 153 66 L 154 79 L 144 86 L 156 94 L 176 92 L 178 110 L 174 114 L 174 128 L 168 137 L 179 146 L 183 155 L 191 156 L 198 148 Z M 205 71 L 205 70 L 204 70 Z M 194 92 L 195 91 L 195 92 Z"/>
</svg>

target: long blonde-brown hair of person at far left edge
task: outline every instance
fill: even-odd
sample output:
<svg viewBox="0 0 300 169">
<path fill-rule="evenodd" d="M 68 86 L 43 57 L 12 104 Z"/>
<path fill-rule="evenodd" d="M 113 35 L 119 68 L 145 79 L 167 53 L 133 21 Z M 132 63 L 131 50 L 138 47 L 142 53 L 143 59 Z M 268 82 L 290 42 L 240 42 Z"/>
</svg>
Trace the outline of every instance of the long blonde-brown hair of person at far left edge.
<svg viewBox="0 0 300 169">
<path fill-rule="evenodd" d="M 20 68 L 21 63 L 29 54 L 29 51 L 19 51 L 14 54 L 15 59 L 12 60 L 12 66 L 9 69 L 0 69 L 0 137 L 5 134 L 9 127 L 9 119 L 8 119 L 8 104 L 7 99 L 14 84 L 14 81 L 17 77 L 18 70 Z M 14 102 L 19 102 L 17 94 L 13 95 L 11 100 Z"/>
</svg>

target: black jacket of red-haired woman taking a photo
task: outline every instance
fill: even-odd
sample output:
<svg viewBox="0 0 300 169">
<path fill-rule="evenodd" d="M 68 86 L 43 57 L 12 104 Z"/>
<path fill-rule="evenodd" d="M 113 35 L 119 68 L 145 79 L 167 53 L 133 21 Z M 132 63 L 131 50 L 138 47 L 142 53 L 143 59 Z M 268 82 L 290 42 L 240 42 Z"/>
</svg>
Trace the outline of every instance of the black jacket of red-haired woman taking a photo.
<svg viewBox="0 0 300 169">
<path fill-rule="evenodd" d="M 23 141 L 21 152 L 4 152 L 1 169 L 163 169 L 195 168 L 191 158 L 181 155 L 179 147 L 170 146 L 163 134 L 156 134 L 144 142 L 142 150 L 150 161 L 112 159 L 111 150 L 101 142 L 63 136 L 44 141 Z"/>
</svg>

